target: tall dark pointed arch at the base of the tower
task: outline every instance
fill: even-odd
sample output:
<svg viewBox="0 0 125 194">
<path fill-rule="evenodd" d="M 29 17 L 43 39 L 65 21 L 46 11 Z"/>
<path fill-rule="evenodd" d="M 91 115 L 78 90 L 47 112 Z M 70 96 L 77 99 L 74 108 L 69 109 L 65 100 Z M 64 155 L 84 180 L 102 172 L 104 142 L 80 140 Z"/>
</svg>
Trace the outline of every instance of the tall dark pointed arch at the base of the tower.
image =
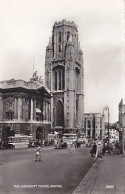
<svg viewBox="0 0 125 194">
<path fill-rule="evenodd" d="M 57 101 L 56 105 L 56 126 L 64 127 L 64 107 L 60 100 Z"/>
</svg>

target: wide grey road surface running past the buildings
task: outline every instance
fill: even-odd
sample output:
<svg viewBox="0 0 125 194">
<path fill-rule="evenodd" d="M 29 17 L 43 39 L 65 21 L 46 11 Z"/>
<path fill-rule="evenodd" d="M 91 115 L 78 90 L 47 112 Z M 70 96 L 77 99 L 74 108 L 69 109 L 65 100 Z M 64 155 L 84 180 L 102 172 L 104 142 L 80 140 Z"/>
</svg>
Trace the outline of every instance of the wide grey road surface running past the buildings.
<svg viewBox="0 0 125 194">
<path fill-rule="evenodd" d="M 0 151 L 0 193 L 70 194 L 93 164 L 89 148 L 44 147 L 41 162 L 34 162 L 35 148 Z"/>
</svg>

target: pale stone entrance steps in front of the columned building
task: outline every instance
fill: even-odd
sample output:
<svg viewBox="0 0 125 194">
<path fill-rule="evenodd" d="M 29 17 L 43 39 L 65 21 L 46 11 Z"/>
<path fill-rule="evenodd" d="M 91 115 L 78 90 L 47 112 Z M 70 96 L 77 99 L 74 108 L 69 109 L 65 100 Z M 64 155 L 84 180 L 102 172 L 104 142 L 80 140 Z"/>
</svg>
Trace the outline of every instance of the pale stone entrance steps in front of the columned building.
<svg viewBox="0 0 125 194">
<path fill-rule="evenodd" d="M 15 145 L 15 148 L 26 148 L 32 138 L 32 135 L 15 134 L 14 137 L 9 137 L 9 142 Z"/>
</svg>

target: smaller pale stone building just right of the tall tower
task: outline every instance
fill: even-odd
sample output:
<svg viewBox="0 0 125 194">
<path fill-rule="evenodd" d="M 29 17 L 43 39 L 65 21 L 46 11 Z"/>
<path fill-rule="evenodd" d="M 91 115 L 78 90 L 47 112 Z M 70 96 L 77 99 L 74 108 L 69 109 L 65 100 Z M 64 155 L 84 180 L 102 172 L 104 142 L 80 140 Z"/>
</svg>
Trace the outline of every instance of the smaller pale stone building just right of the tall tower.
<svg viewBox="0 0 125 194">
<path fill-rule="evenodd" d="M 105 135 L 105 118 L 100 113 L 84 114 L 84 132 L 87 138 L 98 139 Z"/>
</svg>

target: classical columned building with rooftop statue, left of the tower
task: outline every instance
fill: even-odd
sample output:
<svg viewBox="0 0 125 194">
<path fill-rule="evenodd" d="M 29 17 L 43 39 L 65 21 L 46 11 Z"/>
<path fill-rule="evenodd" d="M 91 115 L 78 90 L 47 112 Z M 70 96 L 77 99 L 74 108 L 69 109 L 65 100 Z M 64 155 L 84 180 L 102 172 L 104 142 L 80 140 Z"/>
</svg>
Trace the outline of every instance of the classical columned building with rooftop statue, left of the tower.
<svg viewBox="0 0 125 194">
<path fill-rule="evenodd" d="M 35 74 L 34 74 L 35 76 Z M 33 77 L 29 82 L 0 82 L 0 136 L 7 138 L 11 128 L 15 134 L 45 139 L 51 128 L 50 93 Z"/>
</svg>

